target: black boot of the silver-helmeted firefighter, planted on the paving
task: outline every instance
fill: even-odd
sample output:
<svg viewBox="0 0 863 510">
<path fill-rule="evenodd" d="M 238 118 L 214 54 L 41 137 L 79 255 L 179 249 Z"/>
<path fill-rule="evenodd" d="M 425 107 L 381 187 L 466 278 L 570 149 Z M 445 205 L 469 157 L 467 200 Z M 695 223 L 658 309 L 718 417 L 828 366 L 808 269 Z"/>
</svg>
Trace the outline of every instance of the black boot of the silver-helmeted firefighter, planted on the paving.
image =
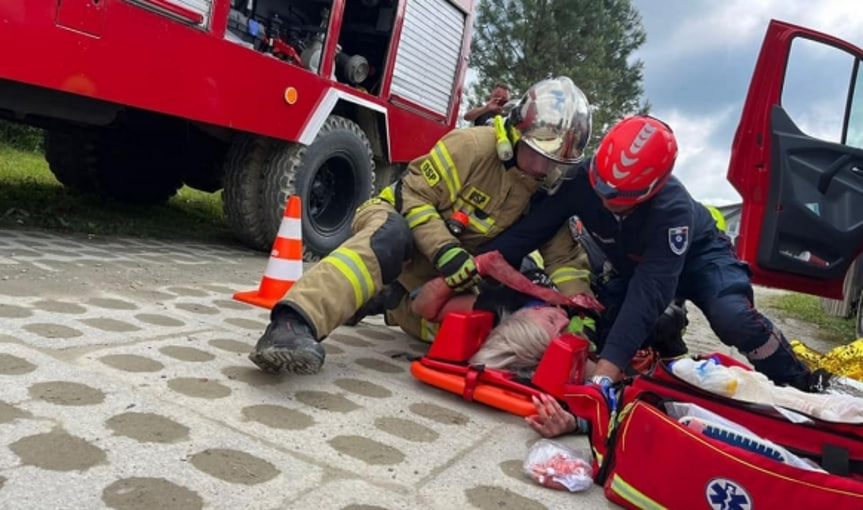
<svg viewBox="0 0 863 510">
<path fill-rule="evenodd" d="M 271 374 L 316 374 L 325 357 L 313 328 L 284 305 L 273 308 L 270 324 L 249 354 L 255 365 Z"/>
</svg>

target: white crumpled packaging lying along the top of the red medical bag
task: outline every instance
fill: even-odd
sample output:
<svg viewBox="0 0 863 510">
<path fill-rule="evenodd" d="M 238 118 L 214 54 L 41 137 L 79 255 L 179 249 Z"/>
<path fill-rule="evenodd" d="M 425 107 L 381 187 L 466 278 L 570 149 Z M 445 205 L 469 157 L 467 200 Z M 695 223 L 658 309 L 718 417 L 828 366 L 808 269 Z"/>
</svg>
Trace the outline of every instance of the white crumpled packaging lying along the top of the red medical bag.
<svg viewBox="0 0 863 510">
<path fill-rule="evenodd" d="M 670 368 L 693 386 L 725 397 L 779 406 L 832 422 L 863 423 L 863 399 L 853 394 L 835 390 L 805 393 L 790 386 L 776 386 L 760 372 L 723 366 L 716 358 L 684 358 L 670 363 Z"/>
</svg>

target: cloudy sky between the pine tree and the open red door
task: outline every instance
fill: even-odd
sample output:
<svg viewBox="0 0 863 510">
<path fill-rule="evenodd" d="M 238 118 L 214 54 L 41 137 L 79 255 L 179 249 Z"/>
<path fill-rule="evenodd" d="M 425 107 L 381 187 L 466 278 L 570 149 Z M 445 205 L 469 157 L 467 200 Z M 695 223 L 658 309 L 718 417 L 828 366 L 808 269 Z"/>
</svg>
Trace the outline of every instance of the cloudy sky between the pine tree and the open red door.
<svg viewBox="0 0 863 510">
<path fill-rule="evenodd" d="M 636 54 L 644 61 L 645 96 L 652 114 L 672 126 L 680 145 L 675 173 L 695 198 L 716 205 L 740 201 L 726 180 L 728 156 L 769 20 L 803 25 L 863 47 L 861 0 L 633 4 L 647 30 L 647 42 Z M 809 58 L 813 68 L 819 65 L 817 52 Z M 806 115 L 812 125 L 819 122 L 814 110 Z"/>
</svg>

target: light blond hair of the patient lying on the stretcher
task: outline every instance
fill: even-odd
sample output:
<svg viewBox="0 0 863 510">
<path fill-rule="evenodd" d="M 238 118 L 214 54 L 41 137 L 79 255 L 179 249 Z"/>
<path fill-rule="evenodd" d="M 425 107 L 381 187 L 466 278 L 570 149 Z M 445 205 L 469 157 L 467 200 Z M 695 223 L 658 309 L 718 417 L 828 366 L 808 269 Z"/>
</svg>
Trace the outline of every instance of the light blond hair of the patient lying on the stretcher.
<svg viewBox="0 0 863 510">
<path fill-rule="evenodd" d="M 505 316 L 470 362 L 514 372 L 531 371 L 539 364 L 551 337 L 531 319 L 531 309 Z"/>
</svg>

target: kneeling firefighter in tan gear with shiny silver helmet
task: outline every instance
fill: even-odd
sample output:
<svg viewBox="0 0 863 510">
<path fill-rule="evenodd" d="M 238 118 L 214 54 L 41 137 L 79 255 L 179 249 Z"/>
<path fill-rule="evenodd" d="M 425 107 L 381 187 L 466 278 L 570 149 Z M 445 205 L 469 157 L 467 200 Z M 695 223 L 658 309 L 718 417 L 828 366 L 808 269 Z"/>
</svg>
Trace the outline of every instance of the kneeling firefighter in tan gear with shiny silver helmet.
<svg viewBox="0 0 863 510">
<path fill-rule="evenodd" d="M 584 94 L 558 77 L 533 85 L 494 127 L 445 135 L 357 209 L 354 235 L 272 309 L 249 359 L 272 373 L 318 372 L 319 342 L 384 288 L 391 293 L 387 323 L 431 341 L 432 325 L 410 312 L 411 292 L 439 275 L 456 291 L 471 290 L 480 281 L 472 254 L 515 223 L 535 192 L 557 190 L 563 168 L 582 159 L 590 129 Z M 461 232 L 447 227 L 454 213 L 467 218 Z M 561 292 L 590 292 L 587 256 L 566 226 L 540 253 Z"/>
</svg>

